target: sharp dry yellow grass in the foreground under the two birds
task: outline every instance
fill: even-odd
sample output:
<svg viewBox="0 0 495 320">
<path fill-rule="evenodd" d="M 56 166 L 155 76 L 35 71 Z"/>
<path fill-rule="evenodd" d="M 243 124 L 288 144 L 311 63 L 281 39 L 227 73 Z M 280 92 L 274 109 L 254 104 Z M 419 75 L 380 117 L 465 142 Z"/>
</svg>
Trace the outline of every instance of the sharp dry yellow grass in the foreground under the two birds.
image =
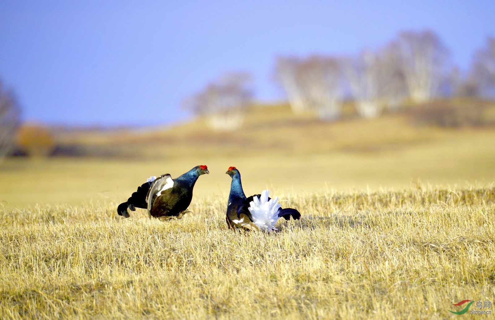
<svg viewBox="0 0 495 320">
<path fill-rule="evenodd" d="M 495 296 L 493 186 L 291 195 L 278 234 L 227 230 L 225 203 L 3 209 L 0 318 L 441 319 Z"/>
</svg>

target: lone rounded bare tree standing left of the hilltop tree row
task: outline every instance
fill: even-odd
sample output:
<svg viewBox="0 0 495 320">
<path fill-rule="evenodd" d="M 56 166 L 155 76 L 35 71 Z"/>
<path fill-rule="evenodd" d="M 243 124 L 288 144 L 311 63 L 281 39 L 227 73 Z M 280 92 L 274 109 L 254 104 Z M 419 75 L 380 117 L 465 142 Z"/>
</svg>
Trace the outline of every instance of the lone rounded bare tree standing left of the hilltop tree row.
<svg viewBox="0 0 495 320">
<path fill-rule="evenodd" d="M 183 107 L 204 116 L 211 129 L 234 130 L 242 126 L 252 92 L 249 74 L 228 73 L 185 99 Z"/>
</svg>

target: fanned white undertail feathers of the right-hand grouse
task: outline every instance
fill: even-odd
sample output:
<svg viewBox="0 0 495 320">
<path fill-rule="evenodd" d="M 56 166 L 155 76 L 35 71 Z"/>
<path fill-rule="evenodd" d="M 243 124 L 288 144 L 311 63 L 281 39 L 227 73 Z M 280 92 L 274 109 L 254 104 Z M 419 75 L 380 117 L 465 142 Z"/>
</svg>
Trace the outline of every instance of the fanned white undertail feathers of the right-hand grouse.
<svg viewBox="0 0 495 320">
<path fill-rule="evenodd" d="M 252 216 L 252 222 L 260 229 L 267 232 L 277 230 L 275 224 L 278 220 L 278 211 L 280 204 L 278 197 L 268 200 L 268 190 L 261 192 L 261 197 L 253 197 L 249 202 L 249 212 Z"/>
</svg>

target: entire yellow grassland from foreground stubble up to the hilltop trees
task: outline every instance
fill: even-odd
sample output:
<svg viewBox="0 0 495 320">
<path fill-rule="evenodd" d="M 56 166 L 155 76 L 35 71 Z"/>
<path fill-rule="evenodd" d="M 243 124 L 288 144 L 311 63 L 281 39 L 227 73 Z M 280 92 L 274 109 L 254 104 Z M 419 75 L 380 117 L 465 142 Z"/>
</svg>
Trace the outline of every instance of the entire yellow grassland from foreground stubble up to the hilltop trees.
<svg viewBox="0 0 495 320">
<path fill-rule="evenodd" d="M 286 111 L 228 135 L 198 120 L 63 137 L 121 157 L 3 162 L 0 319 L 445 319 L 495 303 L 493 127 Z M 116 216 L 150 175 L 198 164 L 193 214 Z M 229 166 L 301 220 L 228 230 Z"/>
</svg>

